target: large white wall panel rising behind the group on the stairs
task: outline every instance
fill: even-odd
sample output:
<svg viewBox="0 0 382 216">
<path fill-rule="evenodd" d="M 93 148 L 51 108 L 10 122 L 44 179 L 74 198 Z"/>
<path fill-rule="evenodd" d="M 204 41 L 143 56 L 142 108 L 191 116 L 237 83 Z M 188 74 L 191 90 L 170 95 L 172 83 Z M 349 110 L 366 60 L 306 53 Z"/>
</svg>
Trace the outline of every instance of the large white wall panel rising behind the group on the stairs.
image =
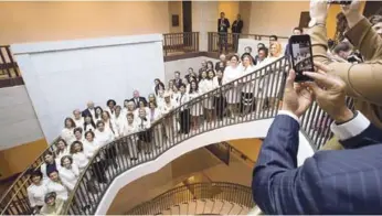
<svg viewBox="0 0 382 216">
<path fill-rule="evenodd" d="M 132 90 L 152 90 L 165 78 L 162 35 L 73 40 L 11 45 L 41 128 L 51 142 L 64 119 L 86 101 L 121 104 Z"/>
</svg>

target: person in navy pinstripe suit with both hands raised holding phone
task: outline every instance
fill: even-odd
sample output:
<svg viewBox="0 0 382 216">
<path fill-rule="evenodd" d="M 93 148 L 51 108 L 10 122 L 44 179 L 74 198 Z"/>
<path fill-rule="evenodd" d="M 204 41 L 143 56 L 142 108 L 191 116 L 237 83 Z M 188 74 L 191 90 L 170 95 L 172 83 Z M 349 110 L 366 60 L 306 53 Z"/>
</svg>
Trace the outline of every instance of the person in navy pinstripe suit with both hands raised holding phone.
<svg viewBox="0 0 382 216">
<path fill-rule="evenodd" d="M 294 88 L 288 75 L 283 110 L 265 138 L 253 172 L 255 203 L 266 215 L 382 213 L 382 133 L 344 102 L 346 83 L 322 65 L 306 73 L 319 83 Z M 307 90 L 307 88 L 309 90 Z M 299 117 L 312 95 L 331 117 L 332 132 L 347 150 L 319 151 L 297 168 Z"/>
</svg>

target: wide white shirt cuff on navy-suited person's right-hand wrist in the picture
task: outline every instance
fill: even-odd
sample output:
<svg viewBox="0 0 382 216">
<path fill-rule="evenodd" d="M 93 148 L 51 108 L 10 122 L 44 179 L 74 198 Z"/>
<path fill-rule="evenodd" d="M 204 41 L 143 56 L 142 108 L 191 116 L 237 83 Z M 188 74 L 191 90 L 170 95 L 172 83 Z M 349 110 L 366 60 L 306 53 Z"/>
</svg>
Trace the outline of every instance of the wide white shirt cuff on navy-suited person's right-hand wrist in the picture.
<svg viewBox="0 0 382 216">
<path fill-rule="evenodd" d="M 330 130 L 339 140 L 347 140 L 363 132 L 369 126 L 370 121 L 360 111 L 357 111 L 356 118 L 341 125 L 332 122 Z"/>
</svg>

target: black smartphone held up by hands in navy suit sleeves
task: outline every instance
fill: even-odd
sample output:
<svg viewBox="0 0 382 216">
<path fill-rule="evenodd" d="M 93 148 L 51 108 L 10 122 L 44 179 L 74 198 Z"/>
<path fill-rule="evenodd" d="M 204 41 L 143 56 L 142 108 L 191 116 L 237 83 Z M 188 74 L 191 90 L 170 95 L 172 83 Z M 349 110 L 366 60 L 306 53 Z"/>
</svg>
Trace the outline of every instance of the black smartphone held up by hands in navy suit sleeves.
<svg viewBox="0 0 382 216">
<path fill-rule="evenodd" d="M 315 72 L 310 36 L 308 34 L 290 36 L 289 53 L 291 66 L 296 73 L 295 82 L 312 80 L 310 77 L 303 75 L 303 72 Z"/>
</svg>

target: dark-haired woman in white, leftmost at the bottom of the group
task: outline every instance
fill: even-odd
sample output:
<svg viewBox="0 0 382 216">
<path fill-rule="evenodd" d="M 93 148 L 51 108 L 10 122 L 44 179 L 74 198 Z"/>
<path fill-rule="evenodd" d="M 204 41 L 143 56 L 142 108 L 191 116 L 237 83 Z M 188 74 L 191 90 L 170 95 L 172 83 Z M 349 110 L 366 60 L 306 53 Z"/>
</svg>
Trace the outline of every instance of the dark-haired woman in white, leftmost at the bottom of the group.
<svg viewBox="0 0 382 216">
<path fill-rule="evenodd" d="M 42 181 L 41 171 L 33 171 L 31 174 L 32 184 L 26 188 L 28 199 L 34 212 L 39 212 L 44 205 L 44 197 L 47 193 L 47 188 Z"/>
</svg>

